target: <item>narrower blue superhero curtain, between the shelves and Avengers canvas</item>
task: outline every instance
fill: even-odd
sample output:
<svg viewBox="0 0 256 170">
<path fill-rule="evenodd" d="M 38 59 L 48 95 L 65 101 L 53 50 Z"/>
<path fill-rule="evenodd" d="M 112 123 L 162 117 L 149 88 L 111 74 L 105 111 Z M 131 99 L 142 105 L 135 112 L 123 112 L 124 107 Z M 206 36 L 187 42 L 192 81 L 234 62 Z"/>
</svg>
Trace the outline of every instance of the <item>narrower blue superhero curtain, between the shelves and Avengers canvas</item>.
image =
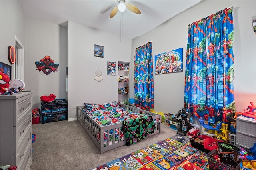
<svg viewBox="0 0 256 170">
<path fill-rule="evenodd" d="M 152 42 L 136 48 L 134 59 L 135 104 L 144 109 L 154 108 Z"/>
</svg>

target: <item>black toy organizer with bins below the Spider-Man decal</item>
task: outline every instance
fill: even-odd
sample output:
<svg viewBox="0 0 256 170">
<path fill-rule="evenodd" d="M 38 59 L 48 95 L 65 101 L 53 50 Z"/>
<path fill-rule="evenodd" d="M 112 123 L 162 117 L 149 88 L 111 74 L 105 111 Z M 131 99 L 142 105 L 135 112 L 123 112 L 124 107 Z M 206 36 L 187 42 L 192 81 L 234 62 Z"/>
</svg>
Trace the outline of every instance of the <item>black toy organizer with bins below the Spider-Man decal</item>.
<svg viewBox="0 0 256 170">
<path fill-rule="evenodd" d="M 42 123 L 68 120 L 68 102 L 66 99 L 55 99 L 52 102 L 41 102 Z"/>
</svg>

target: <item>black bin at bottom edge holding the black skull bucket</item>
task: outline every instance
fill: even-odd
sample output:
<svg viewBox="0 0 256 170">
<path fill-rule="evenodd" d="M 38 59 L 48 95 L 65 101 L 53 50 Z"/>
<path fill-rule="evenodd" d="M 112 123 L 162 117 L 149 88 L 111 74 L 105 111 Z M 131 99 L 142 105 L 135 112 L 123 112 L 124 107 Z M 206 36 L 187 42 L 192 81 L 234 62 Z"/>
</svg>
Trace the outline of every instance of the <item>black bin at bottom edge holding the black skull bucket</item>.
<svg viewBox="0 0 256 170">
<path fill-rule="evenodd" d="M 240 164 L 241 164 L 240 162 L 237 164 L 235 168 L 230 167 L 228 165 L 222 164 L 221 162 L 215 160 L 213 158 L 213 155 L 218 155 L 218 151 L 216 149 L 206 154 L 209 162 L 209 170 L 240 170 Z"/>
</svg>

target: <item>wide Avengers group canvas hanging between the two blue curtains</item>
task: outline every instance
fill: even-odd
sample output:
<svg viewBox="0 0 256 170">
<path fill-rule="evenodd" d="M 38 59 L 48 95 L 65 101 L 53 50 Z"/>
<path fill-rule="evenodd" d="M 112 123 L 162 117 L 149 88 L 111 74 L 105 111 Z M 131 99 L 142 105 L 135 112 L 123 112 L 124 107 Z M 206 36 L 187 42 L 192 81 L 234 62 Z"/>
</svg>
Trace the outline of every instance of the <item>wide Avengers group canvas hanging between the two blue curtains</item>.
<svg viewBox="0 0 256 170">
<path fill-rule="evenodd" d="M 155 55 L 155 74 L 182 72 L 183 48 Z"/>
</svg>

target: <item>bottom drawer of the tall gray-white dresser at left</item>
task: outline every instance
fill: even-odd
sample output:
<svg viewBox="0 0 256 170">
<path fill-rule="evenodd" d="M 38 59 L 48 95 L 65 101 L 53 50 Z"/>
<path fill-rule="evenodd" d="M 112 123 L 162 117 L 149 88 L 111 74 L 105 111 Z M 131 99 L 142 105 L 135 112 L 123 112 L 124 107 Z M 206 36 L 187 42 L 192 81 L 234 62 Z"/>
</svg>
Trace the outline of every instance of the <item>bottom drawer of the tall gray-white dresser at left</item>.
<svg viewBox="0 0 256 170">
<path fill-rule="evenodd" d="M 20 162 L 20 164 L 17 166 L 17 170 L 29 170 L 30 166 L 32 164 L 32 142 L 30 141 L 30 144 L 28 147 L 26 147 L 26 151 L 24 153 L 24 156 Z"/>
</svg>

